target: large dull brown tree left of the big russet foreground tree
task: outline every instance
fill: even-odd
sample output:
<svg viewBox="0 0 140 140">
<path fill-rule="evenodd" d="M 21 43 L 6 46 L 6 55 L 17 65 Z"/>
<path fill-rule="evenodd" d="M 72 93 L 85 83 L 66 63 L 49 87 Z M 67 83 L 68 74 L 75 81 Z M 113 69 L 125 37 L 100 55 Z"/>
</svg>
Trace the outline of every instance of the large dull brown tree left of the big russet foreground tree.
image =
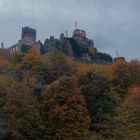
<svg viewBox="0 0 140 140">
<path fill-rule="evenodd" d="M 39 104 L 24 83 L 14 83 L 7 89 L 4 108 L 10 113 L 8 126 L 12 139 L 45 139 Z"/>
</svg>

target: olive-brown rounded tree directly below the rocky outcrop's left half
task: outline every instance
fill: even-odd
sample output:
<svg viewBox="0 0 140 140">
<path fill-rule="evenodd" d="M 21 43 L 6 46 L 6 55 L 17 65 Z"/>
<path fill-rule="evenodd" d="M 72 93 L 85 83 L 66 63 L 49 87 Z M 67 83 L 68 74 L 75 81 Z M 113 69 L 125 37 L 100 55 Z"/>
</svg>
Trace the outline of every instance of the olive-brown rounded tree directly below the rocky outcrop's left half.
<svg viewBox="0 0 140 140">
<path fill-rule="evenodd" d="M 71 76 L 76 73 L 76 64 L 60 51 L 54 50 L 50 52 L 44 60 L 46 83 L 51 83 L 61 76 Z"/>
</svg>

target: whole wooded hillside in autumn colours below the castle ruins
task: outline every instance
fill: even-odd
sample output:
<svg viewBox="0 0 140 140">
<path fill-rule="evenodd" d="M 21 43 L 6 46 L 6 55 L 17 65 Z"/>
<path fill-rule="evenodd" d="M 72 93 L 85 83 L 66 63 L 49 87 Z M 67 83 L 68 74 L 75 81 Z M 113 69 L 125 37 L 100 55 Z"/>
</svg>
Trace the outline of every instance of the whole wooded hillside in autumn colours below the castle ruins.
<svg viewBox="0 0 140 140">
<path fill-rule="evenodd" d="M 0 140 L 140 140 L 140 62 L 1 51 Z"/>
</svg>

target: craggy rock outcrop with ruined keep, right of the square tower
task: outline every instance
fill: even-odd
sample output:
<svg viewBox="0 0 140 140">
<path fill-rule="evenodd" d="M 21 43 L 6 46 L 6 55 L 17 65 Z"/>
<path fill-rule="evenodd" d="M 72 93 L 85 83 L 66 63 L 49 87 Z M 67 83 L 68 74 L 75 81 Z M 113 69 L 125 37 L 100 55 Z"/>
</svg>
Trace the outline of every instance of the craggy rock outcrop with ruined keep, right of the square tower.
<svg viewBox="0 0 140 140">
<path fill-rule="evenodd" d="M 62 33 L 60 39 L 55 39 L 53 36 L 46 39 L 43 54 L 58 49 L 64 52 L 67 56 L 86 62 L 95 63 L 111 63 L 112 57 L 108 54 L 98 52 L 94 46 L 94 41 L 86 37 L 86 32 L 80 29 L 75 29 L 71 38 L 65 37 Z"/>
</svg>

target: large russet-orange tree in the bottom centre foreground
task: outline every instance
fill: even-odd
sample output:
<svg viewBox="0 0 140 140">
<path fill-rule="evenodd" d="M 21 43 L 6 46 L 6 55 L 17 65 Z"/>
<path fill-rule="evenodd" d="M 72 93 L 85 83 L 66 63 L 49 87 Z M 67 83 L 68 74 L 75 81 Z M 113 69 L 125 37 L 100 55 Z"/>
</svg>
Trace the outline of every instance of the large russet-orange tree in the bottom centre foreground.
<svg viewBox="0 0 140 140">
<path fill-rule="evenodd" d="M 75 77 L 61 77 L 47 87 L 44 109 L 50 139 L 77 140 L 86 135 L 90 118 Z"/>
</svg>

